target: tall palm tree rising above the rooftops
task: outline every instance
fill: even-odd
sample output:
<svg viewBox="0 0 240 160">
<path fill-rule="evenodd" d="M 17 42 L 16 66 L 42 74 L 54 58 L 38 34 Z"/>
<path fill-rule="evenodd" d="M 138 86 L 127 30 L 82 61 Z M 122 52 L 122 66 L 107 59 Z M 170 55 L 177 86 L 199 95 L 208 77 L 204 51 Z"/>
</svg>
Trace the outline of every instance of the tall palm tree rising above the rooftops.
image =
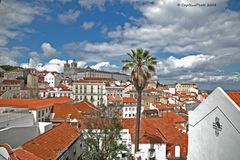
<svg viewBox="0 0 240 160">
<path fill-rule="evenodd" d="M 140 117 L 141 117 L 141 101 L 142 91 L 147 85 L 147 81 L 151 78 L 151 73 L 155 72 L 157 59 L 152 57 L 150 52 L 139 48 L 131 50 L 127 53 L 127 60 L 123 60 L 123 70 L 131 69 L 131 80 L 137 91 L 137 116 L 135 130 L 135 153 L 139 151 L 139 133 L 140 133 Z"/>
</svg>

